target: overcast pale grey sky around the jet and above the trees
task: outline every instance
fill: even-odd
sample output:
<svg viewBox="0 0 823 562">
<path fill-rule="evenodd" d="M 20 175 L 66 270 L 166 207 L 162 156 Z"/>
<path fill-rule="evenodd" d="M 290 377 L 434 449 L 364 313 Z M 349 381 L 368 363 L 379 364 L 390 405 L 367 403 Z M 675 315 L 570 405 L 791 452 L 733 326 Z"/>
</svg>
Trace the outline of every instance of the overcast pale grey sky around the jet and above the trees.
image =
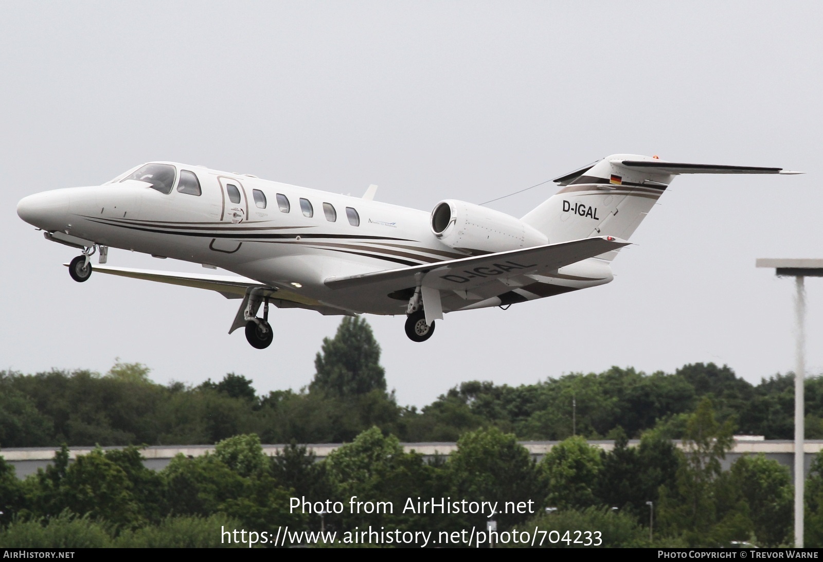
<svg viewBox="0 0 823 562">
<path fill-rule="evenodd" d="M 179 160 L 430 210 L 483 202 L 613 153 L 802 176 L 675 180 L 615 281 L 449 314 L 424 344 L 367 317 L 398 402 L 470 379 L 611 365 L 793 366 L 793 283 L 760 257 L 823 258 L 820 2 L 0 2 L 0 368 L 115 357 L 199 383 L 295 390 L 339 318 L 276 310 L 275 342 L 226 334 L 238 302 L 103 275 L 16 216 L 30 193 Z M 495 202 L 522 216 L 553 183 Z M 109 264 L 204 272 L 112 249 Z M 807 281 L 810 372 L 823 280 Z"/>
</svg>

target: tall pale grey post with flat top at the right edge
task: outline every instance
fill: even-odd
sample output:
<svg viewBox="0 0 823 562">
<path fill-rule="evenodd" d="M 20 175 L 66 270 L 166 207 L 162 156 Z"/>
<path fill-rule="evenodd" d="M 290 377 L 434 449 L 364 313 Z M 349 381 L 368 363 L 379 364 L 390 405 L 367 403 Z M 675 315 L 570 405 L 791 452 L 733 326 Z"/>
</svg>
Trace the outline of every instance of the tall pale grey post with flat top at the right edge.
<svg viewBox="0 0 823 562">
<path fill-rule="evenodd" d="M 797 320 L 794 369 L 794 546 L 803 547 L 803 490 L 806 483 L 803 444 L 806 438 L 803 425 L 803 381 L 806 376 L 806 277 L 823 277 L 823 259 L 769 259 L 760 258 L 756 267 L 774 267 L 779 277 L 794 277 L 797 295 L 794 312 Z"/>
</svg>

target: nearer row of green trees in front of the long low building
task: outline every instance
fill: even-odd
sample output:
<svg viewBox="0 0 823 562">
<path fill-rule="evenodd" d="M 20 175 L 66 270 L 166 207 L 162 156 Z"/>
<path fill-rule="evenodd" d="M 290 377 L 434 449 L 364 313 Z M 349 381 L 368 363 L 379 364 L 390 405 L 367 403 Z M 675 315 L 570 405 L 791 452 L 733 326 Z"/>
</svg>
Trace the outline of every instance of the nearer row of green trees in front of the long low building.
<svg viewBox="0 0 823 562">
<path fill-rule="evenodd" d="M 688 416 L 681 448 L 658 430 L 645 432 L 635 447 L 621 434 L 608 452 L 572 436 L 540 462 L 514 434 L 494 426 L 464 433 L 449 457 L 428 459 L 377 427 L 322 462 L 297 444 L 267 457 L 256 434 L 223 439 L 201 457 L 180 454 L 160 471 L 146 468 L 134 446 L 95 448 L 75 462 L 63 446 L 51 466 L 25 480 L 0 458 L 0 547 L 240 546 L 223 542 L 221 530 L 284 526 L 341 534 L 371 526 L 435 536 L 485 529 L 486 513 L 402 509 L 409 499 L 443 498 L 532 508 L 498 511 L 500 532 L 538 527 L 561 537 L 597 530 L 602 546 L 611 547 L 786 546 L 792 536 L 788 469 L 756 455 L 722 471 L 732 429 L 717 420 L 706 398 Z M 353 496 L 393 509 L 352 513 Z M 346 509 L 327 509 L 321 517 L 316 509 L 292 509 L 298 502 L 291 498 L 301 506 L 338 501 Z M 807 482 L 806 544 L 823 546 L 823 457 Z"/>
</svg>

